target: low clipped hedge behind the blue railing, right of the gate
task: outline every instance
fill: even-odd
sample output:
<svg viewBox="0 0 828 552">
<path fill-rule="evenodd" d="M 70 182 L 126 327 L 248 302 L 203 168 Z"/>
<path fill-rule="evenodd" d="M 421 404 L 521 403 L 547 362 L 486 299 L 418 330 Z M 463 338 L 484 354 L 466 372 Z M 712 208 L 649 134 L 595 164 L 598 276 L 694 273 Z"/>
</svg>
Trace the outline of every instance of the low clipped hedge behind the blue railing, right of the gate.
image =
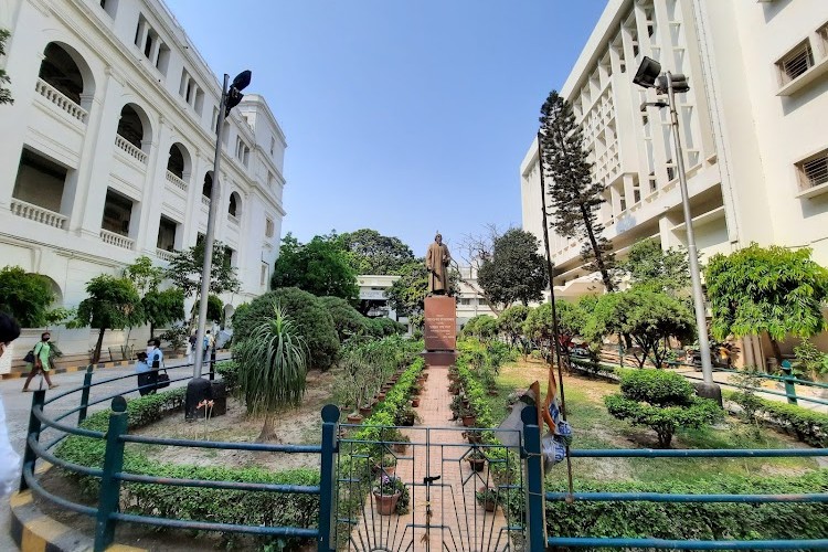
<svg viewBox="0 0 828 552">
<path fill-rule="evenodd" d="M 828 492 L 828 470 L 802 477 L 719 476 L 699 482 L 575 481 L 582 492 L 806 493 Z M 546 484 L 565 492 L 565 479 Z M 512 497 L 519 507 L 521 497 Z M 546 530 L 554 537 L 627 537 L 700 540 L 824 539 L 825 503 L 546 502 Z"/>
</svg>

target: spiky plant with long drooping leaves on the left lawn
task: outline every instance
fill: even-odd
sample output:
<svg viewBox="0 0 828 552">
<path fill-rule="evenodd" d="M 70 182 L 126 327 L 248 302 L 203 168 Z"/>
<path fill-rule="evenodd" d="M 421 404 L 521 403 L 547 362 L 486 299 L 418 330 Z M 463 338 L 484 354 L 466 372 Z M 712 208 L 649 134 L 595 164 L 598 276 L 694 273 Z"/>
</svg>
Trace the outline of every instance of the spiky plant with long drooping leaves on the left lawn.
<svg viewBox="0 0 828 552">
<path fill-rule="evenodd" d="M 273 318 L 261 321 L 235 348 L 238 389 L 247 413 L 264 416 L 259 442 L 274 437 L 274 414 L 298 406 L 305 394 L 308 348 L 296 325 L 275 304 Z"/>
</svg>

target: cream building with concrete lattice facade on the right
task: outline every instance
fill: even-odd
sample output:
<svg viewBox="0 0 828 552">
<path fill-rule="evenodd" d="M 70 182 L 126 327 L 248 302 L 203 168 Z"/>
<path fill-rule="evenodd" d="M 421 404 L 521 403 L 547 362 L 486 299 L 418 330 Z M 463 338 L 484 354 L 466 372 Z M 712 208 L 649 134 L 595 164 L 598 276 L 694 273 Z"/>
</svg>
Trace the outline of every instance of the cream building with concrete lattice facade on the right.
<svg viewBox="0 0 828 552">
<path fill-rule="evenodd" d="M 641 109 L 656 93 L 633 84 L 645 55 L 689 81 L 677 104 L 702 262 L 757 242 L 811 247 L 828 265 L 828 2 L 607 2 L 560 91 L 604 183 L 599 220 L 622 257 L 648 236 L 686 243 L 669 110 Z M 542 240 L 537 141 L 520 174 L 523 227 Z M 550 248 L 562 295 L 602 288 L 582 268 L 580 243 L 552 233 Z"/>
</svg>

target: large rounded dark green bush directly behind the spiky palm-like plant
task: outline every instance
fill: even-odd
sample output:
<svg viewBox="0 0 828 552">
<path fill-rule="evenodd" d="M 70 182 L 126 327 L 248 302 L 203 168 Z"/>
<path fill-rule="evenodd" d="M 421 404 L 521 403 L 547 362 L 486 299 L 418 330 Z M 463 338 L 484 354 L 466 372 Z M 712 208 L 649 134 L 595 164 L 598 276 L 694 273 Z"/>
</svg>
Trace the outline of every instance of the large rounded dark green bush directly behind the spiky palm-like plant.
<svg viewBox="0 0 828 552">
<path fill-rule="evenodd" d="M 233 317 L 233 342 L 237 344 L 251 336 L 258 321 L 273 315 L 273 305 L 277 301 L 305 338 L 310 352 L 310 367 L 328 370 L 333 365 L 340 344 L 333 318 L 319 297 L 296 287 L 269 291 L 236 312 Z"/>
</svg>

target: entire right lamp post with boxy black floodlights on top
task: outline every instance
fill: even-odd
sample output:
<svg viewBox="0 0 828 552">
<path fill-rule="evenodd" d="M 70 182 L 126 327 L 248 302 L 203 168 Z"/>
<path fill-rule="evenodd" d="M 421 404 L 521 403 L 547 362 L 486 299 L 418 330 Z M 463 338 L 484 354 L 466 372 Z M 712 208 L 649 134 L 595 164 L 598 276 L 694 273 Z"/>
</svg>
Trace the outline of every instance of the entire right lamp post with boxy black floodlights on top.
<svg viewBox="0 0 828 552">
<path fill-rule="evenodd" d="M 696 326 L 699 335 L 699 354 L 701 355 L 701 371 L 704 382 L 700 385 L 700 395 L 716 399 L 722 402 L 722 393 L 718 384 L 713 382 L 713 365 L 710 361 L 710 341 L 708 340 L 708 320 L 704 312 L 704 294 L 701 290 L 701 272 L 699 269 L 699 255 L 696 248 L 696 235 L 693 234 L 693 221 L 690 213 L 690 194 L 687 190 L 687 173 L 684 172 L 684 153 L 681 149 L 681 136 L 679 134 L 679 116 L 676 109 L 676 93 L 688 92 L 690 85 L 687 77 L 680 73 L 672 74 L 669 71 L 661 73 L 661 64 L 644 56 L 638 66 L 633 82 L 645 88 L 655 88 L 658 94 L 667 94 L 667 102 L 645 102 L 641 104 L 644 112 L 647 106 L 669 107 L 672 127 L 672 140 L 676 146 L 676 166 L 679 171 L 679 189 L 681 190 L 681 206 L 684 212 L 684 226 L 687 230 L 687 251 L 690 257 L 690 282 L 693 289 L 693 309 L 696 310 Z"/>
</svg>

